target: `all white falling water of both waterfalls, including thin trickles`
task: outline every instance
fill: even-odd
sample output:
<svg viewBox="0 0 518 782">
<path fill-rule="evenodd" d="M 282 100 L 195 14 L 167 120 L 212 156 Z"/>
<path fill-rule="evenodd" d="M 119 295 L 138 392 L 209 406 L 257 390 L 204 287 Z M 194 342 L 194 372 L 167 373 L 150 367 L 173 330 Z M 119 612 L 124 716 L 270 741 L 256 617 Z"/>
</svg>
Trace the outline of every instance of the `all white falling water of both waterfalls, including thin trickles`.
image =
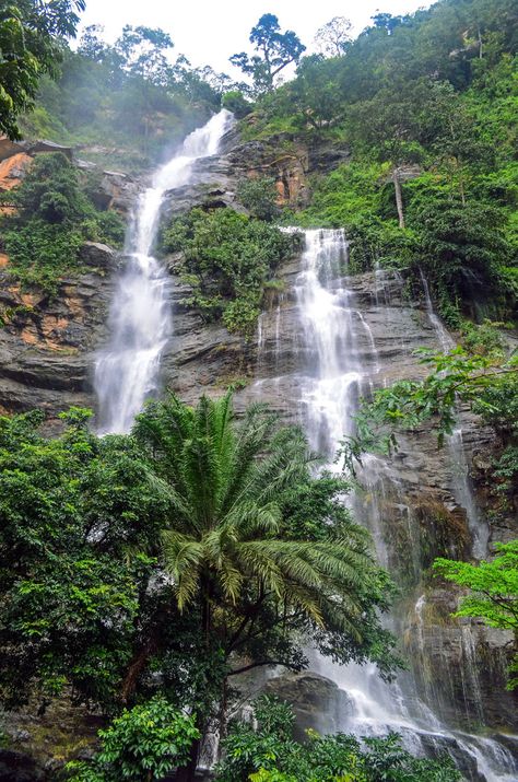
<svg viewBox="0 0 518 782">
<path fill-rule="evenodd" d="M 94 386 L 98 399 L 98 432 L 125 433 L 131 429 L 134 416 L 145 399 L 157 392 L 161 355 L 174 334 L 170 307 L 170 280 L 165 268 L 153 256 L 161 208 L 168 190 L 189 183 L 195 162 L 217 152 L 220 140 L 229 128 L 232 115 L 221 112 L 203 128 L 189 136 L 180 152 L 153 177 L 152 186 L 139 198 L 131 220 L 126 246 L 126 265 L 117 280 L 109 314 L 109 341 L 96 358 Z M 289 384 L 293 397 L 287 399 L 299 413 L 311 448 L 329 458 L 328 468 L 338 470 L 333 462 L 340 442 L 354 432 L 354 413 L 358 400 L 374 387 L 391 382 L 380 369 L 376 339 L 355 301 L 351 278 L 348 277 L 348 242 L 342 230 L 307 230 L 302 266 L 295 278 L 293 296 L 298 318 L 295 369 Z M 398 284 L 402 280 L 395 272 Z M 377 303 L 388 303 L 385 290 L 386 273 L 377 269 Z M 425 285 L 427 314 L 439 347 L 451 340 L 435 315 Z M 378 290 L 379 289 L 379 290 Z M 279 372 L 281 345 L 286 339 L 283 329 L 283 307 L 290 292 L 279 299 L 274 312 L 273 365 Z M 390 327 L 387 322 L 387 328 Z M 267 341 L 266 325 L 258 324 L 258 362 Z M 404 338 L 403 338 L 404 341 Z M 410 348 L 409 348 L 410 350 Z M 269 381 L 280 398 L 286 397 L 283 377 Z M 256 398 L 261 397 L 264 381 L 255 383 Z M 284 404 L 286 399 L 284 398 Z M 467 456 L 459 429 L 448 445 L 455 462 L 457 478 L 451 476 L 452 495 L 467 513 L 473 536 L 475 556 L 485 552 L 487 530 L 480 518 L 469 483 Z M 455 470 L 454 470 L 455 474 Z M 361 479 L 369 499 L 356 495 L 350 500 L 358 521 L 370 530 L 378 558 L 384 567 L 390 561 L 390 530 L 385 525 L 382 503 L 386 493 L 397 494 L 401 517 L 410 520 L 411 509 L 400 490 L 397 466 L 369 456 L 365 459 Z M 410 525 L 410 521 L 409 521 Z M 412 533 L 410 533 L 412 539 Z M 419 573 L 420 563 L 412 550 L 408 567 Z M 412 632 L 419 647 L 417 663 L 425 664 L 427 654 L 424 633 L 426 595 L 420 594 L 413 609 Z M 389 627 L 402 633 L 403 618 L 392 616 Z M 463 658 L 476 654 L 470 627 L 460 629 Z M 334 681 L 348 695 L 346 713 L 339 715 L 338 730 L 358 736 L 381 736 L 391 731 L 400 733 L 405 746 L 414 752 L 436 756 L 448 751 L 466 779 L 471 782 L 497 782 L 518 779 L 518 760 L 509 746 L 498 737 L 468 732 L 440 713 L 440 698 L 435 687 L 419 688 L 414 673 L 405 672 L 398 680 L 384 682 L 374 666 L 338 666 L 327 658 L 310 654 L 311 668 Z M 469 690 L 470 702 L 478 698 L 474 665 L 466 670 L 462 686 Z M 480 693 L 479 693 L 480 695 Z M 475 714 L 475 720 L 483 714 Z"/>
</svg>

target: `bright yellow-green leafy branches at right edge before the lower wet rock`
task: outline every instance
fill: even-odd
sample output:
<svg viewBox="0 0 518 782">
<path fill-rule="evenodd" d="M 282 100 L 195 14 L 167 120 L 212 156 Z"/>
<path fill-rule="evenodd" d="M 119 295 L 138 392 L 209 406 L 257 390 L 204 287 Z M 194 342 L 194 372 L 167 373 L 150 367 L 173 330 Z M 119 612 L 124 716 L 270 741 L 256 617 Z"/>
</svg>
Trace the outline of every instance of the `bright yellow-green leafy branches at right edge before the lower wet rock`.
<svg viewBox="0 0 518 782">
<path fill-rule="evenodd" d="M 437 559 L 435 570 L 447 581 L 470 590 L 471 594 L 461 599 L 456 617 L 482 619 L 488 627 L 511 630 L 515 649 L 518 644 L 518 540 L 495 544 L 496 557 L 493 561 L 455 562 Z M 518 687 L 518 652 L 515 652 L 510 673 L 516 674 L 507 685 Z"/>
</svg>

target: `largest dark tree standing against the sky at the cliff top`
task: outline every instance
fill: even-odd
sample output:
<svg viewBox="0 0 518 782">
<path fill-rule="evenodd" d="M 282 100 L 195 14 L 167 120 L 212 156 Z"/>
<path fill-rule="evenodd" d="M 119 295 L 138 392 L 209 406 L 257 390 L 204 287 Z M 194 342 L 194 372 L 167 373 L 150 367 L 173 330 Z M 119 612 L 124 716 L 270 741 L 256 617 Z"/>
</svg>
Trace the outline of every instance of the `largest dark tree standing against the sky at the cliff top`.
<svg viewBox="0 0 518 782">
<path fill-rule="evenodd" d="M 272 92 L 275 77 L 290 63 L 298 62 L 306 47 L 297 35 L 287 30 L 281 33 L 278 17 L 264 13 L 250 32 L 250 43 L 260 55 L 249 57 L 245 51 L 231 57 L 231 62 L 250 75 L 258 94 Z"/>
</svg>

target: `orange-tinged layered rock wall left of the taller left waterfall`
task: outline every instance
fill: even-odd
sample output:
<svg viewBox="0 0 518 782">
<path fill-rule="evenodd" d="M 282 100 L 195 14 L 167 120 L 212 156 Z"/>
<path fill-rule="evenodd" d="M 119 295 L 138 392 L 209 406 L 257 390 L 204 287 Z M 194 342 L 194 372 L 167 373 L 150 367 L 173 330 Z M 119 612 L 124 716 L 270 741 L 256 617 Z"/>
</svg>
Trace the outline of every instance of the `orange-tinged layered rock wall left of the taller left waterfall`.
<svg viewBox="0 0 518 782">
<path fill-rule="evenodd" d="M 92 250 L 96 262 L 101 254 L 111 264 L 109 248 Z M 54 296 L 24 293 L 5 276 L 0 284 L 0 409 L 42 407 L 54 418 L 72 405 L 93 407 L 91 372 L 106 337 L 111 273 L 96 268 L 63 279 Z"/>
</svg>

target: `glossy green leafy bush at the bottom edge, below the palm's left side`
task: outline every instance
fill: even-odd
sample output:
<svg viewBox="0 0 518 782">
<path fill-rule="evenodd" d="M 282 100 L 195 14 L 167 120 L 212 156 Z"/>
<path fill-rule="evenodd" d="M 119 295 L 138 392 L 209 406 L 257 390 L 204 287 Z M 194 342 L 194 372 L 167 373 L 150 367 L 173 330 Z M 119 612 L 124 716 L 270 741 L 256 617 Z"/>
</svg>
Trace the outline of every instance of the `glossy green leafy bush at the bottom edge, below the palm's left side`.
<svg viewBox="0 0 518 782">
<path fill-rule="evenodd" d="M 68 765 L 71 782 L 154 782 L 189 759 L 200 737 L 192 716 L 153 698 L 123 711 L 106 731 L 99 731 L 101 751 L 91 763 Z"/>
</svg>

